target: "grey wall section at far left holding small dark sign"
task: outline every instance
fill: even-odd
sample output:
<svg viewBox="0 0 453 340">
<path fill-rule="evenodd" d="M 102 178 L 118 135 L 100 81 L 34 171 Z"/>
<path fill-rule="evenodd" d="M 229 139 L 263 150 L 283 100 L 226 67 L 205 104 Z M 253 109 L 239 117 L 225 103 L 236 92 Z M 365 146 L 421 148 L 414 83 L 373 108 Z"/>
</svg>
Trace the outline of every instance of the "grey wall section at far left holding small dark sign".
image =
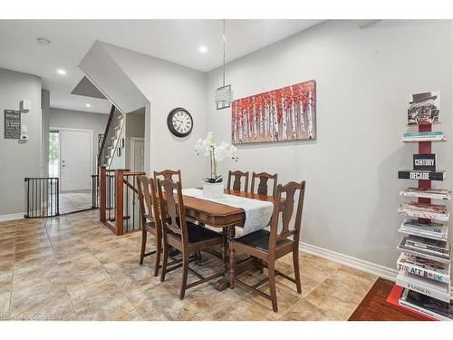
<svg viewBox="0 0 453 340">
<path fill-rule="evenodd" d="M 5 139 L 4 110 L 19 110 L 23 99 L 32 109 L 22 113 L 28 141 Z M 41 175 L 41 79 L 32 74 L 0 69 L 0 216 L 23 214 L 25 177 Z"/>
</svg>

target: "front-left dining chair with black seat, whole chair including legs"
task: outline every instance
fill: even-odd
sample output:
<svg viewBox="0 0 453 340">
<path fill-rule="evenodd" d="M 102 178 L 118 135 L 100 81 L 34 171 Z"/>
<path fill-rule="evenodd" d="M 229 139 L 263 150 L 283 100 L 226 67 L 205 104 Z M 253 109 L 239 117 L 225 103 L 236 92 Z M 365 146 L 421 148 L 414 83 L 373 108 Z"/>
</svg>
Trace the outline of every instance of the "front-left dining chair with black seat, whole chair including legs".
<svg viewBox="0 0 453 340">
<path fill-rule="evenodd" d="M 174 193 L 175 189 L 176 193 Z M 182 264 L 178 264 L 178 266 L 172 267 L 169 270 L 182 266 L 182 282 L 179 291 L 179 298 L 182 300 L 188 288 L 198 286 L 223 275 L 223 267 L 220 272 L 209 277 L 203 277 L 197 271 L 188 267 L 191 255 L 195 257 L 198 251 L 217 245 L 223 247 L 223 237 L 213 230 L 186 219 L 181 182 L 158 180 L 158 191 L 164 248 L 160 281 L 165 281 L 168 271 L 169 247 L 178 249 L 182 253 Z M 225 252 L 222 251 L 222 254 L 225 254 Z M 199 280 L 188 284 L 188 271 L 194 273 Z"/>
</svg>

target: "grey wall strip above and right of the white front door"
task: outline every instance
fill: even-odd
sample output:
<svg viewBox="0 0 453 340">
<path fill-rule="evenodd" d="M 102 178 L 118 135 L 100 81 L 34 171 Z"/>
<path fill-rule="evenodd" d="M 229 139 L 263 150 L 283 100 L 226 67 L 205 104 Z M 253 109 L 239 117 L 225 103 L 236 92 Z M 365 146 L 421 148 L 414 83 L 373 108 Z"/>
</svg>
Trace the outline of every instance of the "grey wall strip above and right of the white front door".
<svg viewBox="0 0 453 340">
<path fill-rule="evenodd" d="M 92 174 L 97 173 L 98 135 L 105 132 L 108 114 L 50 109 L 51 128 L 92 130 Z"/>
</svg>

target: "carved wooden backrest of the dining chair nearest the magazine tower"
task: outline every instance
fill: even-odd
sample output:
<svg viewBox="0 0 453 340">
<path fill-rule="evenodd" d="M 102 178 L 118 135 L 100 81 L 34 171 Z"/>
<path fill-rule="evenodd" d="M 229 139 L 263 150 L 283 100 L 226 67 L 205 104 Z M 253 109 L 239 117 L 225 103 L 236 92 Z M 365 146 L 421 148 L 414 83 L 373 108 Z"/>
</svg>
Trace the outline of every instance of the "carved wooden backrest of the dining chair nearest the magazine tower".
<svg viewBox="0 0 453 340">
<path fill-rule="evenodd" d="M 299 191 L 298 198 L 296 193 Z M 285 185 L 279 184 L 275 193 L 274 213 L 271 219 L 271 237 L 269 238 L 269 252 L 276 248 L 277 241 L 293 236 L 294 242 L 299 243 L 302 211 L 304 209 L 305 181 L 300 183 L 291 181 Z M 295 200 L 298 199 L 295 213 L 294 228 L 290 228 L 290 222 L 294 213 Z M 280 216 L 282 216 L 282 228 L 279 228 Z"/>
</svg>

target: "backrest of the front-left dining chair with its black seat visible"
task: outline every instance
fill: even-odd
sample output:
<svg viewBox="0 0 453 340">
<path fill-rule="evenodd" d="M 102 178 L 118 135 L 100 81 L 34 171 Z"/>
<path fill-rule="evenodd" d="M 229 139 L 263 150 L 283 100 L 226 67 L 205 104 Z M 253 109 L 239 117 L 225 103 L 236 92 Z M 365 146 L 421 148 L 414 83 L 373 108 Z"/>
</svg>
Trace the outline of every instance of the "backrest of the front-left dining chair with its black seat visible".
<svg viewBox="0 0 453 340">
<path fill-rule="evenodd" d="M 167 238 L 167 233 L 171 231 L 181 235 L 182 242 L 187 245 L 188 226 L 181 182 L 158 180 L 158 192 L 164 240 Z"/>
</svg>

